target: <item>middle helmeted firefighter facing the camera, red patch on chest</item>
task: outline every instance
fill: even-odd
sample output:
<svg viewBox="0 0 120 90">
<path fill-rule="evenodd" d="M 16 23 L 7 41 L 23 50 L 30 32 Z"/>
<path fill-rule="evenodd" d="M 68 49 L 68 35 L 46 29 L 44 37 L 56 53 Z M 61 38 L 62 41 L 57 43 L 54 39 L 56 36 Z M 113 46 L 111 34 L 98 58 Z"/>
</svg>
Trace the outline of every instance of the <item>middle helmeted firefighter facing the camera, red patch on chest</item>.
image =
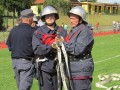
<svg viewBox="0 0 120 90">
<path fill-rule="evenodd" d="M 56 9 L 46 6 L 41 15 L 41 20 L 45 22 L 45 25 L 39 27 L 33 35 L 32 45 L 35 55 L 46 59 L 39 66 L 40 90 L 57 90 L 57 50 L 54 43 L 57 32 L 60 32 L 62 37 L 67 35 L 67 32 L 56 24 L 57 19 L 59 19 L 59 15 Z"/>
</svg>

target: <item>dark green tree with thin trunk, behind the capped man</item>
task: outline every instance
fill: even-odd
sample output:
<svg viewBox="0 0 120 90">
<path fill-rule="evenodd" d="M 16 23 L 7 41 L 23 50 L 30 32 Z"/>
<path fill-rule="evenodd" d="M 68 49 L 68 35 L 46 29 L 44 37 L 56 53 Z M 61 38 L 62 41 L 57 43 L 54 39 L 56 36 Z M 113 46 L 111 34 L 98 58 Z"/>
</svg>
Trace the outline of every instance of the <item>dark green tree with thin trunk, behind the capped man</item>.
<svg viewBox="0 0 120 90">
<path fill-rule="evenodd" d="M 1 0 L 0 5 L 7 9 L 8 11 L 13 12 L 13 26 L 14 26 L 14 17 L 15 12 L 18 12 L 18 16 L 20 15 L 20 11 L 26 8 L 30 8 L 32 3 L 35 0 Z"/>
</svg>

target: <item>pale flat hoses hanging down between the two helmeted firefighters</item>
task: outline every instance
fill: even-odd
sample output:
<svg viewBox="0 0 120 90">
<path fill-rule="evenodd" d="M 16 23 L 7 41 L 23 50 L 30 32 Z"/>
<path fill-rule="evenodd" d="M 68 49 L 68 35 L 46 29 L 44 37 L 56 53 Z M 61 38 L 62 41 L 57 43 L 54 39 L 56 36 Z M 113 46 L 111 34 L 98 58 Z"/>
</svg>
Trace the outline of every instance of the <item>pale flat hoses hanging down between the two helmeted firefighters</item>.
<svg viewBox="0 0 120 90">
<path fill-rule="evenodd" d="M 71 90 L 73 89 L 73 84 L 72 84 L 72 80 L 70 80 L 71 78 L 71 74 L 70 74 L 70 69 L 69 69 L 69 62 L 68 62 L 68 56 L 65 50 L 65 46 L 64 44 L 61 42 L 60 43 L 60 47 L 57 45 L 57 55 L 58 55 L 58 67 L 57 67 L 57 72 L 58 72 L 58 78 L 62 79 L 62 83 L 63 83 L 63 87 L 64 90 L 70 90 L 69 88 L 71 88 Z M 66 65 L 66 69 L 67 69 L 67 73 L 68 76 L 66 76 L 66 72 L 64 69 L 64 63 L 62 62 L 62 53 L 65 59 L 65 65 Z M 58 80 L 58 83 L 60 83 L 60 81 Z M 60 90 L 61 88 L 59 87 L 58 90 Z"/>
</svg>

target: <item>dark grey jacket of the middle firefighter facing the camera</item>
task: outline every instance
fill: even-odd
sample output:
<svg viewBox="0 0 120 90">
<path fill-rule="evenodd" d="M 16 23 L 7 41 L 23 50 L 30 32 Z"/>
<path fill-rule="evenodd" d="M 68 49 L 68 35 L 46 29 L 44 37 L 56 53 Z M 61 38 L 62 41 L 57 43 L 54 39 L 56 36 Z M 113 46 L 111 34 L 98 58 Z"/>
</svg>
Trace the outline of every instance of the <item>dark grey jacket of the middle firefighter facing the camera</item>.
<svg viewBox="0 0 120 90">
<path fill-rule="evenodd" d="M 64 29 L 61 30 L 61 28 L 58 27 L 57 25 L 55 26 L 55 30 L 51 30 L 46 25 L 43 25 L 35 31 L 32 39 L 32 45 L 33 45 L 33 50 L 35 55 L 38 55 L 40 57 L 44 57 L 47 59 L 47 61 L 42 63 L 41 70 L 49 73 L 53 73 L 56 71 L 55 58 L 56 58 L 57 52 L 56 52 L 56 49 L 53 49 L 51 45 L 45 45 L 42 43 L 42 36 L 43 34 L 55 35 L 58 30 L 60 30 L 60 36 L 66 37 L 67 35 L 66 30 Z"/>
</svg>

